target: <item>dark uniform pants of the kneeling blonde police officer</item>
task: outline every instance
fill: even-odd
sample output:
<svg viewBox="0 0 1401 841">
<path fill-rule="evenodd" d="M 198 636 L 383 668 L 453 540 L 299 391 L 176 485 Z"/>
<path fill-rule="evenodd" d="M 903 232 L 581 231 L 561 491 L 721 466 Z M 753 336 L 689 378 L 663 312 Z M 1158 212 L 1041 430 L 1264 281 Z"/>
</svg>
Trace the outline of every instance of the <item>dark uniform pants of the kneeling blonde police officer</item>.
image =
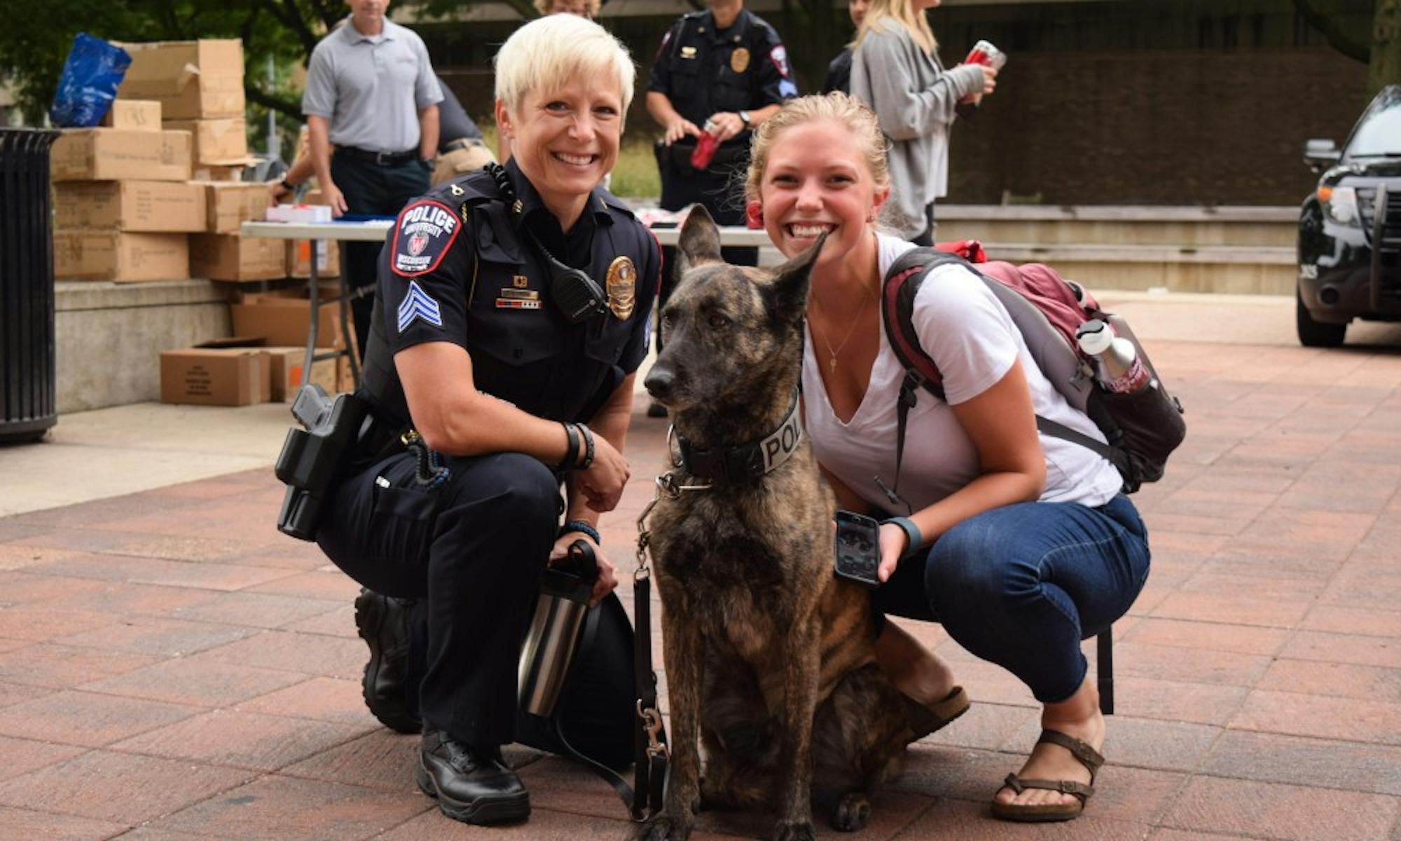
<svg viewBox="0 0 1401 841">
<path fill-rule="evenodd" d="M 426 723 L 468 744 L 524 740 L 558 750 L 539 719 L 518 716 L 516 670 L 555 542 L 559 485 L 518 453 L 443 461 L 450 478 L 432 492 L 416 484 L 409 453 L 356 470 L 329 500 L 317 542 L 366 587 L 419 599 L 409 684 Z M 626 765 L 632 636 L 622 607 L 608 607 L 614 615 L 577 653 L 562 704 L 576 748 Z"/>
</svg>

